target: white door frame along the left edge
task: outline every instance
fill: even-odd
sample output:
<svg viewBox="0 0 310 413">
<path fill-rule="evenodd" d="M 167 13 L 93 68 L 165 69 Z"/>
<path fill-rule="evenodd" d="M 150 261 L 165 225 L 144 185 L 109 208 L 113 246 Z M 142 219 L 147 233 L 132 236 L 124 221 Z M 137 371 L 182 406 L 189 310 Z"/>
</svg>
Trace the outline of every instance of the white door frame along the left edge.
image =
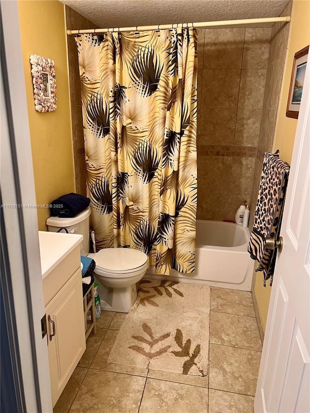
<svg viewBox="0 0 310 413">
<path fill-rule="evenodd" d="M 22 411 L 52 412 L 47 336 L 42 338 L 41 330 L 43 281 L 17 1 L 1 1 L 0 11 L 1 203 L 9 206 L 1 208 L 1 217 L 12 296 L 5 294 L 14 307 L 16 329 L 10 350 L 19 353 Z"/>
</svg>

